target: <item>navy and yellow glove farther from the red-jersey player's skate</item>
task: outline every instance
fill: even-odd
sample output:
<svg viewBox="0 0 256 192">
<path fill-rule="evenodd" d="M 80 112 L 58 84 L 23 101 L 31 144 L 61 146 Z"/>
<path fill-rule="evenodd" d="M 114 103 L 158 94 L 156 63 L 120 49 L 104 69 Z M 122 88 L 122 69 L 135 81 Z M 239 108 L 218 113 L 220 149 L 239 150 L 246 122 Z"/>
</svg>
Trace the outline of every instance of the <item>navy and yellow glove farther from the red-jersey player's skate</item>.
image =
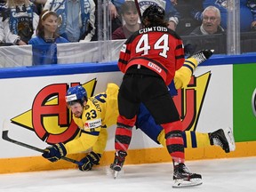
<svg viewBox="0 0 256 192">
<path fill-rule="evenodd" d="M 44 149 L 42 156 L 51 162 L 58 161 L 61 157 L 67 155 L 67 150 L 63 143 L 58 143 Z"/>
</svg>

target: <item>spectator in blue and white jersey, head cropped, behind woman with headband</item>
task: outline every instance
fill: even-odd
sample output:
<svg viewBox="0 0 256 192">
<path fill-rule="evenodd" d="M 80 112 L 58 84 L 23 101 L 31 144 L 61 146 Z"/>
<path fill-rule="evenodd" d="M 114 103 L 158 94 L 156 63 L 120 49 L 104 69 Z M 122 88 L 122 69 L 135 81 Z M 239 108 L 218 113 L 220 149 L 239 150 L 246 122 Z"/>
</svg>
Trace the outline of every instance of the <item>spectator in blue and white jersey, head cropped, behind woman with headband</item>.
<svg viewBox="0 0 256 192">
<path fill-rule="evenodd" d="M 95 34 L 93 0 L 47 0 L 44 10 L 60 15 L 60 36 L 69 42 L 90 42 Z"/>
</svg>

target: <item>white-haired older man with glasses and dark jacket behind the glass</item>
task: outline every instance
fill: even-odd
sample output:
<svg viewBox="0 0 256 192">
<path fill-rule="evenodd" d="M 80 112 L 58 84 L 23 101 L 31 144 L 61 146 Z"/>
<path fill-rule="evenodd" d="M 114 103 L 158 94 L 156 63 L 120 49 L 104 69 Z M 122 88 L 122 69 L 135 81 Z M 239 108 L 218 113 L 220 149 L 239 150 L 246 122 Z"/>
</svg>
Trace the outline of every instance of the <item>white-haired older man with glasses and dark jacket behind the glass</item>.
<svg viewBox="0 0 256 192">
<path fill-rule="evenodd" d="M 196 27 L 189 36 L 200 36 L 199 38 L 189 39 L 186 44 L 188 52 L 194 53 L 202 47 L 215 50 L 215 53 L 222 52 L 223 44 L 218 44 L 215 34 L 224 34 L 224 29 L 220 26 L 220 10 L 215 6 L 209 6 L 204 9 L 202 25 Z M 204 35 L 204 37 L 202 36 Z"/>
</svg>

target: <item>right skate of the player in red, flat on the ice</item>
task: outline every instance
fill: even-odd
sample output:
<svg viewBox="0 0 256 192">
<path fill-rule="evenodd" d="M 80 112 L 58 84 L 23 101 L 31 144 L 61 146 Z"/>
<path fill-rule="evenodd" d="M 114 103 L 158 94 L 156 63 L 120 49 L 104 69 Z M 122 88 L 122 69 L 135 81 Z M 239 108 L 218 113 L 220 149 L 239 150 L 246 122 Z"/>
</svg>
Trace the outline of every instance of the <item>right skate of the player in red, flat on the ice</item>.
<svg viewBox="0 0 256 192">
<path fill-rule="evenodd" d="M 172 188 L 192 187 L 203 183 L 202 176 L 190 172 L 185 164 L 174 165 L 173 180 Z"/>
</svg>

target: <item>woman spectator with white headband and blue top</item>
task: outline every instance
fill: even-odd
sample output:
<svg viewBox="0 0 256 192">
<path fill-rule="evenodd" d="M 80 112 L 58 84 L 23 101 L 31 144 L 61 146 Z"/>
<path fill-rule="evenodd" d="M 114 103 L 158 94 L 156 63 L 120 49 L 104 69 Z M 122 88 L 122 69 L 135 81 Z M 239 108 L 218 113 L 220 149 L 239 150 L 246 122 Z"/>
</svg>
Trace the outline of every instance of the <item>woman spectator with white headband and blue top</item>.
<svg viewBox="0 0 256 192">
<path fill-rule="evenodd" d="M 68 43 L 68 40 L 57 33 L 60 18 L 56 12 L 44 10 L 39 18 L 36 36 L 28 41 L 32 44 L 33 65 L 56 64 L 57 45 Z"/>
</svg>

